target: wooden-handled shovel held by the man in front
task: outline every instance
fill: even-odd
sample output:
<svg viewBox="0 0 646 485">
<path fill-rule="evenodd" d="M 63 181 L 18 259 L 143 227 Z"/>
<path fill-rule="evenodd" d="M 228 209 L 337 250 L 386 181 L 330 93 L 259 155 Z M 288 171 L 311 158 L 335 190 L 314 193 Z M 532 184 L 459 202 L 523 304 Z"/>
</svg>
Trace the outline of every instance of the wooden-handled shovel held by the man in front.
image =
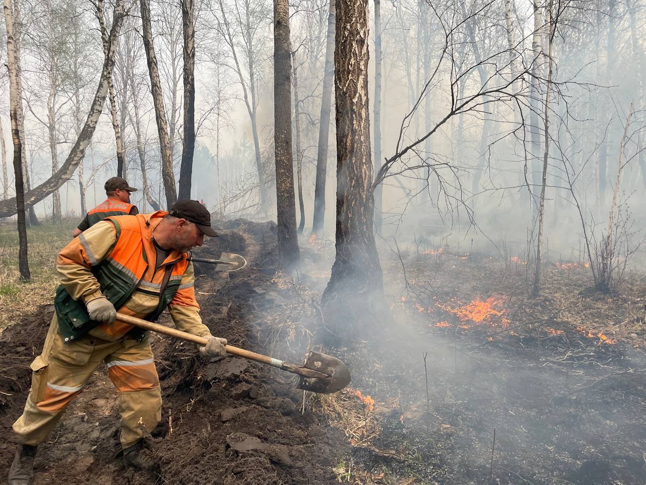
<svg viewBox="0 0 646 485">
<path fill-rule="evenodd" d="M 182 330 L 171 329 L 171 327 L 165 327 L 159 323 L 152 323 L 152 321 L 142 320 L 129 315 L 118 313 L 116 319 L 123 323 L 139 327 L 140 329 L 152 330 L 153 332 L 197 343 L 198 345 L 204 346 L 208 342 L 208 339 L 205 337 L 198 337 L 188 332 L 182 332 Z M 233 345 L 227 345 L 226 350 L 228 354 L 255 360 L 256 362 L 276 367 L 276 369 L 298 374 L 300 376 L 298 389 L 304 389 L 304 391 L 331 394 L 340 391 L 350 383 L 350 373 L 346 365 L 335 357 L 320 354 L 319 352 L 309 352 L 305 363 L 303 365 L 296 365 L 273 357 L 256 354 L 256 352 L 251 352 L 250 350 L 233 347 Z"/>
</svg>

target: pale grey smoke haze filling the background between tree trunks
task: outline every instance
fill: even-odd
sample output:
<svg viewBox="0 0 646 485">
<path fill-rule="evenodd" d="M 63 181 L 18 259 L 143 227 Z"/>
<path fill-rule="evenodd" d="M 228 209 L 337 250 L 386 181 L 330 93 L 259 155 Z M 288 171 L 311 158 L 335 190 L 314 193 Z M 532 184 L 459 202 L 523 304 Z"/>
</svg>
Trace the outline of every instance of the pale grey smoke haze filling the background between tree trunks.
<svg viewBox="0 0 646 485">
<path fill-rule="evenodd" d="M 109 15 L 109 5 L 105 7 Z M 536 7 L 530 1 L 380 5 L 381 156 L 375 160 L 375 172 L 383 160 L 397 157 L 382 182 L 386 237 L 397 233 L 412 239 L 408 233 L 415 232 L 439 246 L 450 234 L 453 244 L 460 240 L 469 244 L 475 237 L 483 247 L 487 239 L 499 246 L 508 238 L 515 252 L 526 251 L 528 238 L 537 232 L 545 113 L 550 145 L 545 234 L 550 248 L 567 258 L 575 250 L 581 258 L 581 215 L 590 233 L 598 224 L 605 225 L 631 103 L 634 113 L 625 139 L 619 212 L 627 218 L 643 207 L 646 9 L 640 0 L 561 1 L 554 3 L 550 17 L 547 5 Z M 178 176 L 182 21 L 174 3 L 154 2 L 151 8 Z M 373 16 L 373 5 L 370 8 Z M 96 11 L 89 3 L 25 3 L 17 13 L 23 31 L 26 163 L 30 186 L 35 187 L 52 173 L 53 158 L 61 164 L 67 156 L 79 120 L 87 114 L 103 56 Z M 150 195 L 159 201 L 163 199 L 160 152 L 140 19 L 136 8 L 129 13 L 113 75 L 125 175 L 140 187 L 143 163 Z M 267 194 L 274 193 L 271 15 L 267 1 L 196 5 L 197 147 L 192 194 L 223 214 L 275 213 L 273 204 L 261 205 L 258 195 L 259 167 Z M 63 21 L 67 17 L 70 21 Z M 375 69 L 372 20 L 369 73 Z M 305 221 L 311 228 L 328 4 L 299 1 L 291 5 L 290 21 L 300 138 L 293 150 L 295 160 L 302 162 Z M 3 83 L 8 113 L 6 72 Z M 371 74 L 369 91 L 372 110 Z M 6 151 L 9 127 L 5 118 Z M 296 138 L 296 120 L 293 127 Z M 328 158 L 333 160 L 333 123 L 330 129 Z M 409 145 L 412 149 L 401 154 Z M 116 171 L 116 164 L 110 113 L 104 109 L 81 167 L 90 206 L 103 197 L 103 180 Z M 327 165 L 328 207 L 334 200 L 334 166 Z M 3 191 L 12 196 L 10 169 L 7 181 Z M 63 213 L 79 215 L 78 173 L 58 193 Z M 150 208 L 137 197 L 143 194 L 135 201 Z M 36 212 L 51 214 L 52 198 L 37 204 Z M 640 218 L 635 220 L 639 225 Z M 325 224 L 331 236 L 333 218 L 326 217 Z"/>
</svg>

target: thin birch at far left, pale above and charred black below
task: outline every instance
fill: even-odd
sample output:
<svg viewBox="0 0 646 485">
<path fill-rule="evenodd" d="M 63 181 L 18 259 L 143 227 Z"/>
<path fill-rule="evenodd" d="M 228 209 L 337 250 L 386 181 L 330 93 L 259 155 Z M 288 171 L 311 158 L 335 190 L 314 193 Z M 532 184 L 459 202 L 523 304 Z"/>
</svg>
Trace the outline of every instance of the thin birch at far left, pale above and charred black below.
<svg viewBox="0 0 646 485">
<path fill-rule="evenodd" d="M 16 211 L 18 214 L 18 270 L 20 279 L 31 279 L 27 257 L 27 228 L 25 217 L 25 186 L 23 184 L 23 146 L 19 120 L 23 117 L 23 99 L 19 96 L 21 89 L 19 65 L 16 59 L 16 41 L 14 39 L 14 21 L 12 18 L 11 0 L 5 0 L 6 26 L 6 65 L 9 70 L 9 103 L 11 116 L 11 135 L 14 140 L 14 173 L 16 174 Z"/>
</svg>

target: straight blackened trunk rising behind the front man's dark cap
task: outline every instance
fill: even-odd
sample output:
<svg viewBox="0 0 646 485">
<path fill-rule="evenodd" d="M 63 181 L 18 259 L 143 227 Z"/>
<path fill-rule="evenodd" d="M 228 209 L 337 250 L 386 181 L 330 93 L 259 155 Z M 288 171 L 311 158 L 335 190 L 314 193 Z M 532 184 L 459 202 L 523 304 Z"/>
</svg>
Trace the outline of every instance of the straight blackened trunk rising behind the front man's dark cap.
<svg viewBox="0 0 646 485">
<path fill-rule="evenodd" d="M 191 199 L 193 153 L 195 151 L 195 25 L 193 0 L 182 0 L 184 32 L 184 140 L 180 166 L 180 199 Z"/>
</svg>

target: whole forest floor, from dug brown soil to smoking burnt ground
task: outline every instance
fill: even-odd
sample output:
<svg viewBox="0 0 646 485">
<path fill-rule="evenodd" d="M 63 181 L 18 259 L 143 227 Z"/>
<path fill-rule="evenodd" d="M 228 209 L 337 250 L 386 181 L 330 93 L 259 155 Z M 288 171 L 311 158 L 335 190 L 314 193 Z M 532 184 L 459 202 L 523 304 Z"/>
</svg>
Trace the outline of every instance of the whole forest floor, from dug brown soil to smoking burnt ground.
<svg viewBox="0 0 646 485">
<path fill-rule="evenodd" d="M 302 270 L 286 278 L 276 274 L 275 225 L 220 228 L 198 251 L 242 253 L 249 266 L 196 265 L 205 323 L 233 345 L 298 363 L 333 244 L 303 239 Z M 351 387 L 303 393 L 290 374 L 202 360 L 193 345 L 155 335 L 163 419 L 147 442 L 158 468 L 121 465 L 116 393 L 99 368 L 39 448 L 35 483 L 646 483 L 643 276 L 607 296 L 589 290 L 583 264 L 546 263 L 531 300 L 517 258 L 383 249 L 390 315 L 366 341 L 334 350 Z M 3 474 L 51 315 L 41 305 L 0 334 Z"/>
</svg>

